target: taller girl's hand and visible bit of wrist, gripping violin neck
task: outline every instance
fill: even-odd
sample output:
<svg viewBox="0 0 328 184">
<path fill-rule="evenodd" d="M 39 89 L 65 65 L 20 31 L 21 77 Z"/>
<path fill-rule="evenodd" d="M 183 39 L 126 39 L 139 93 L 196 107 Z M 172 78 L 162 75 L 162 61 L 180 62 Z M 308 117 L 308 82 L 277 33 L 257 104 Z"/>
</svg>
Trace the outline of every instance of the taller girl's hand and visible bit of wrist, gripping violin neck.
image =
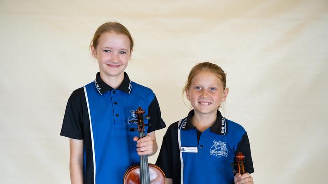
<svg viewBox="0 0 328 184">
<path fill-rule="evenodd" d="M 158 145 L 156 142 L 155 131 L 148 133 L 147 136 L 141 139 L 138 139 L 138 137 L 134 137 L 133 140 L 137 141 L 138 155 L 152 156 L 157 152 Z"/>
</svg>

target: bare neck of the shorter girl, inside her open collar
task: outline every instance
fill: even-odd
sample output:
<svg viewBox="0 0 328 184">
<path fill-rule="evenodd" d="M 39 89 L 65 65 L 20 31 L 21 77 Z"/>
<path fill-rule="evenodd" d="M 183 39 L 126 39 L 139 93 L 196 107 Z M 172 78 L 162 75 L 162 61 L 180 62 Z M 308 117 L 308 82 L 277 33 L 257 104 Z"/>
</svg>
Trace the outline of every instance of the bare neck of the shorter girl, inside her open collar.
<svg viewBox="0 0 328 184">
<path fill-rule="evenodd" d="M 195 115 L 191 118 L 191 123 L 201 132 L 211 127 L 217 118 L 217 114 L 203 114 L 195 111 Z"/>
</svg>

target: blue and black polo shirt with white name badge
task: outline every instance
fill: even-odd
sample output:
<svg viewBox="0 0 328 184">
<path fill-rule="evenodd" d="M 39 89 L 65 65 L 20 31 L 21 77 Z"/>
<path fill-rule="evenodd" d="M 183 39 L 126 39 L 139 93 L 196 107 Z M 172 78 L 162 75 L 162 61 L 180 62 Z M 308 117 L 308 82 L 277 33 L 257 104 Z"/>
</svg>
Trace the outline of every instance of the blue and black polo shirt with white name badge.
<svg viewBox="0 0 328 184">
<path fill-rule="evenodd" d="M 234 183 L 235 154 L 248 160 L 246 171 L 253 173 L 249 140 L 245 129 L 222 117 L 217 111 L 215 123 L 200 132 L 188 116 L 169 126 L 156 161 L 173 183 Z"/>
</svg>

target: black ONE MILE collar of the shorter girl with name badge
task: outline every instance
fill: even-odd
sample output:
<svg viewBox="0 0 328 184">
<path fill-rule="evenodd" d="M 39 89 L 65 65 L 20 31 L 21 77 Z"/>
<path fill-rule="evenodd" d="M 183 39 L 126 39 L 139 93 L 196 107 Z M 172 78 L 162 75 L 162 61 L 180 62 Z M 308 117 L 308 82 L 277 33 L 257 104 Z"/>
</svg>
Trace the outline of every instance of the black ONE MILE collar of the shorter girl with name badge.
<svg viewBox="0 0 328 184">
<path fill-rule="evenodd" d="M 188 129 L 196 129 L 196 127 L 191 123 L 191 118 L 195 115 L 195 111 L 191 110 L 188 113 L 188 116 L 184 118 L 179 125 L 179 128 L 182 130 L 188 130 Z M 224 118 L 220 111 L 217 111 L 216 113 L 216 120 L 215 123 L 209 128 L 209 131 L 219 134 L 219 135 L 226 135 L 227 133 L 227 123 L 226 118 Z"/>
</svg>

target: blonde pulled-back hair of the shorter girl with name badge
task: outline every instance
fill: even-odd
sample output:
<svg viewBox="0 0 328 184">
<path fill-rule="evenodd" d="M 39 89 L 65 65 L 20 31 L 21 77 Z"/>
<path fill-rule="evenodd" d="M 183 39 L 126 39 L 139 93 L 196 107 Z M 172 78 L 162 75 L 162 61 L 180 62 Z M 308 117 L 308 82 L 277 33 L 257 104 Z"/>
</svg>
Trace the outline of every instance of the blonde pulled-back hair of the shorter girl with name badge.
<svg viewBox="0 0 328 184">
<path fill-rule="evenodd" d="M 212 72 L 214 75 L 216 75 L 222 82 L 223 89 L 226 89 L 226 73 L 221 69 L 220 66 L 217 66 L 216 64 L 210 63 L 210 62 L 202 62 L 196 64 L 190 71 L 188 80 L 186 82 L 185 87 L 183 88 L 182 93 L 186 91 L 186 89 L 189 89 L 191 85 L 192 79 L 200 72 L 202 71 L 209 71 Z"/>
</svg>

